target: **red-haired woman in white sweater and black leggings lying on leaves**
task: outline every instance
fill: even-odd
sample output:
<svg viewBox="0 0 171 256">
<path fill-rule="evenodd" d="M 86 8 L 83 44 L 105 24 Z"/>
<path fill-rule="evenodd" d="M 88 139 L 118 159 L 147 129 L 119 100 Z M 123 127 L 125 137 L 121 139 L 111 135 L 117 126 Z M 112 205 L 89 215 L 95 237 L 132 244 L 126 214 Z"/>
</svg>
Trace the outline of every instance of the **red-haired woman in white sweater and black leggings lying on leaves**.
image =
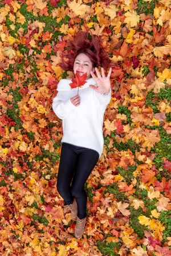
<svg viewBox="0 0 171 256">
<path fill-rule="evenodd" d="M 86 83 L 71 90 L 71 79 L 58 83 L 58 94 L 53 100 L 55 114 L 63 120 L 63 138 L 60 155 L 57 189 L 64 199 L 64 207 L 76 218 L 75 237 L 80 238 L 86 224 L 87 194 L 84 184 L 103 152 L 103 117 L 111 100 L 109 69 L 101 74 L 97 69 L 112 66 L 100 38 L 79 32 L 68 42 L 60 66 L 74 70 L 79 76 L 87 74 Z M 96 75 L 94 74 L 96 72 Z M 91 77 L 92 76 L 92 77 Z"/>
</svg>

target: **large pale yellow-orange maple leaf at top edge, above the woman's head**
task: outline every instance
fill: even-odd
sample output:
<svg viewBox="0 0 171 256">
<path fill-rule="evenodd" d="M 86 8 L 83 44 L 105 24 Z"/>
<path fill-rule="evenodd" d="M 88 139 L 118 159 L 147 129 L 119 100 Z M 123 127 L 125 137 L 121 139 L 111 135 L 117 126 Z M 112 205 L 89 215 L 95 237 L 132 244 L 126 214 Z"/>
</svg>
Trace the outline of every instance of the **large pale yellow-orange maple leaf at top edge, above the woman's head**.
<svg viewBox="0 0 171 256">
<path fill-rule="evenodd" d="M 90 6 L 84 5 L 82 0 L 78 0 L 78 2 L 76 2 L 76 0 L 72 2 L 68 1 L 68 7 L 70 7 L 70 9 L 76 15 L 80 15 L 80 16 L 83 16 L 84 14 L 88 13 L 90 10 Z"/>
</svg>

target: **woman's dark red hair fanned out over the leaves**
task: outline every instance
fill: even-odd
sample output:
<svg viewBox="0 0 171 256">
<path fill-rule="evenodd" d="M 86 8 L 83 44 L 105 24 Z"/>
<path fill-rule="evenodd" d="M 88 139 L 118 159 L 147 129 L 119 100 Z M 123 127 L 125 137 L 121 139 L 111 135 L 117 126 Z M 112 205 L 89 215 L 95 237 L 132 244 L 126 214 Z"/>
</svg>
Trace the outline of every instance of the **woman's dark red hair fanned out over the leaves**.
<svg viewBox="0 0 171 256">
<path fill-rule="evenodd" d="M 101 46 L 100 36 L 91 35 L 88 32 L 79 31 L 72 41 L 68 41 L 66 50 L 62 52 L 61 62 L 59 64 L 63 70 L 72 71 L 74 61 L 80 53 L 86 54 L 92 62 L 93 67 L 102 66 L 104 68 L 112 67 L 107 52 Z"/>
</svg>

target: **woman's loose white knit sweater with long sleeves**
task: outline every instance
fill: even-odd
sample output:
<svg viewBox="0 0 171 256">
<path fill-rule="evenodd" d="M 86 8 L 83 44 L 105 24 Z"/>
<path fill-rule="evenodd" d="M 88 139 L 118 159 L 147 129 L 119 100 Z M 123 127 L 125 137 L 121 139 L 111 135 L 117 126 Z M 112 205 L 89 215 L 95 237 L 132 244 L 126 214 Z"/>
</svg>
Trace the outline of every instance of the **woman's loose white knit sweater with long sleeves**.
<svg viewBox="0 0 171 256">
<path fill-rule="evenodd" d="M 52 108 L 62 119 L 62 142 L 103 152 L 103 118 L 111 91 L 108 95 L 101 95 L 92 90 L 89 85 L 96 86 L 93 78 L 79 88 L 80 105 L 75 107 L 71 97 L 77 94 L 78 88 L 71 89 L 71 79 L 62 79 L 58 83 L 58 94 L 54 97 Z"/>
</svg>

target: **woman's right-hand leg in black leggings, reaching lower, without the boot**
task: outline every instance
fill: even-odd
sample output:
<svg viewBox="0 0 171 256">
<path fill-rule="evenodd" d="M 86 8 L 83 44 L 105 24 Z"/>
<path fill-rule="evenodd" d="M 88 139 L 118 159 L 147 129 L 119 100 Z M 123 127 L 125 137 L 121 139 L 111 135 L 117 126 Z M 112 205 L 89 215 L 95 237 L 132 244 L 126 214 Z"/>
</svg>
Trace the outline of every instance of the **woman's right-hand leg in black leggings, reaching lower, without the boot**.
<svg viewBox="0 0 171 256">
<path fill-rule="evenodd" d="M 86 217 L 87 194 L 84 190 L 84 184 L 87 181 L 99 159 L 99 153 L 92 149 L 84 148 L 78 155 L 76 170 L 71 185 L 72 196 L 76 198 L 78 205 L 78 217 Z"/>
</svg>

